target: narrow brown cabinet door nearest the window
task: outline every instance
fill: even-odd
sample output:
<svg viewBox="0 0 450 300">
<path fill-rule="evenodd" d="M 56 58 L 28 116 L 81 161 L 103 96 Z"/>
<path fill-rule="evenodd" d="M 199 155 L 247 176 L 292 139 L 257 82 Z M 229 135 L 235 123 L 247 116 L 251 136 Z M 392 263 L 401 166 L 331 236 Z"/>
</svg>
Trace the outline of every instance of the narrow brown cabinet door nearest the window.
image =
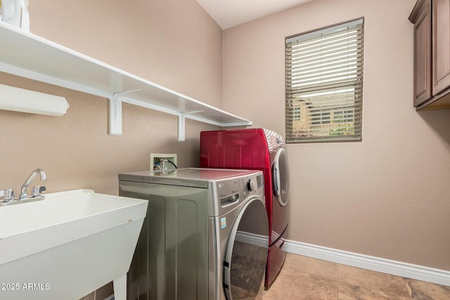
<svg viewBox="0 0 450 300">
<path fill-rule="evenodd" d="M 414 106 L 431 98 L 431 3 L 425 1 L 414 23 Z"/>
</svg>

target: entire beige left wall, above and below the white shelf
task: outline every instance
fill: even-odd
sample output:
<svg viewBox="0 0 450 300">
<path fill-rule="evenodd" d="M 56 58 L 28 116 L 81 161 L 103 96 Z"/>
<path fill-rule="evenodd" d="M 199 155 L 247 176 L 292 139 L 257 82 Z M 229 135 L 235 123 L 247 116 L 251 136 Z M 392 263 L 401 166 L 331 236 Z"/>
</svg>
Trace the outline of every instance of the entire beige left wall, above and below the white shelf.
<svg viewBox="0 0 450 300">
<path fill-rule="evenodd" d="M 221 105 L 222 31 L 195 0 L 33 0 L 30 17 L 34 34 Z M 109 136 L 104 98 L 3 73 L 0 83 L 54 93 L 70 104 L 63 117 L 0 110 L 0 188 L 16 192 L 42 168 L 48 193 L 91 188 L 117 194 L 117 174 L 149 169 L 150 152 L 174 152 L 180 167 L 198 166 L 200 131 L 217 129 L 186 120 L 186 142 L 179 143 L 176 117 L 124 104 L 123 136 Z"/>
</svg>

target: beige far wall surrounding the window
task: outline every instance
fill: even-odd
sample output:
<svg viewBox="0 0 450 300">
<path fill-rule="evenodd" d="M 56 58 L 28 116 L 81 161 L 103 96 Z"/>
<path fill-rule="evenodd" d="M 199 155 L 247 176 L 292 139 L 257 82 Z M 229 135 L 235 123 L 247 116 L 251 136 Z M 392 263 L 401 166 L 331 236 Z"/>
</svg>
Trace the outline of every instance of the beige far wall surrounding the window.
<svg viewBox="0 0 450 300">
<path fill-rule="evenodd" d="M 288 145 L 288 238 L 450 270 L 450 110 L 412 107 L 416 0 L 316 0 L 224 31 L 223 107 L 284 132 L 284 39 L 365 18 L 362 143 Z"/>
</svg>

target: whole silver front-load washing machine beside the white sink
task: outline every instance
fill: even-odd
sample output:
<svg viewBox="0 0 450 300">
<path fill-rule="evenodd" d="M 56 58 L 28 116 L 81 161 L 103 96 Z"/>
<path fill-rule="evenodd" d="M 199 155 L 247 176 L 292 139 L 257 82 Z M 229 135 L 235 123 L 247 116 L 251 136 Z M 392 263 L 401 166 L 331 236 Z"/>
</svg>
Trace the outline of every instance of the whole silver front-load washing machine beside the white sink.
<svg viewBox="0 0 450 300">
<path fill-rule="evenodd" d="M 119 195 L 149 201 L 128 299 L 255 299 L 264 287 L 269 224 L 262 171 L 119 174 Z"/>
</svg>

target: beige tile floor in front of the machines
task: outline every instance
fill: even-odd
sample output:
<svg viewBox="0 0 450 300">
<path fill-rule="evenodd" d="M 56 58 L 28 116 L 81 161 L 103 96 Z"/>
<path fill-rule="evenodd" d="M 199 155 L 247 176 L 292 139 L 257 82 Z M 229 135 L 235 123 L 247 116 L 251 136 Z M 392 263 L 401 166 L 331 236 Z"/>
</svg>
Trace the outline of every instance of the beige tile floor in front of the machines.
<svg viewBox="0 0 450 300">
<path fill-rule="evenodd" d="M 262 299 L 450 300 L 450 287 L 288 253 Z"/>
</svg>

